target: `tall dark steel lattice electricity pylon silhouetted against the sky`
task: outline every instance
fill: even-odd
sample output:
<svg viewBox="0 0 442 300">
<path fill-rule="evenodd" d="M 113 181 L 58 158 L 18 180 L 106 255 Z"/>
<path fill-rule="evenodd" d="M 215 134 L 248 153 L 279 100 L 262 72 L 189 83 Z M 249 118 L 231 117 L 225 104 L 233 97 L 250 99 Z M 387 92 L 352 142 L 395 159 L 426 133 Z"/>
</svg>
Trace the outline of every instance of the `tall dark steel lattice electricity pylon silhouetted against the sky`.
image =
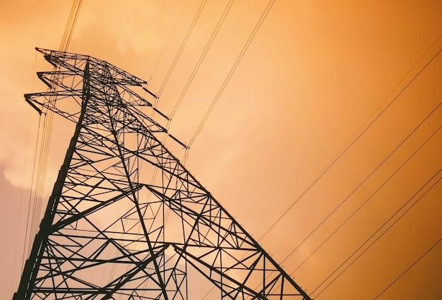
<svg viewBox="0 0 442 300">
<path fill-rule="evenodd" d="M 37 51 L 55 68 L 25 100 L 76 127 L 13 300 L 310 299 L 162 145 L 144 80 Z"/>
</svg>

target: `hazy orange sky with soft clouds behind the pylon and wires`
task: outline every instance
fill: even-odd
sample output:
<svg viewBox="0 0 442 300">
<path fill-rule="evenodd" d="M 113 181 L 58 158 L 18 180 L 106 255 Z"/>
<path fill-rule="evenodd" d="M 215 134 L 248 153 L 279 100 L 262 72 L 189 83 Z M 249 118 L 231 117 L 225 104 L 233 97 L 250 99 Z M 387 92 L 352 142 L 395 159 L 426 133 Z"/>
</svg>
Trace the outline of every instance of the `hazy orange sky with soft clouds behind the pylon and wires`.
<svg viewBox="0 0 442 300">
<path fill-rule="evenodd" d="M 172 112 L 227 2 L 208 0 L 161 94 L 162 112 Z M 200 4 L 84 1 L 68 50 L 151 78 L 158 92 Z M 189 143 L 267 4 L 234 2 L 172 119 L 174 136 Z M 59 48 L 71 1 L 0 7 L 0 299 L 11 299 L 39 121 L 23 94 L 45 89 L 35 72 L 50 65 L 34 47 Z M 441 34 L 438 0 L 276 0 L 190 149 L 186 167 L 256 239 L 297 201 L 262 244 L 277 262 L 296 248 L 282 265 L 314 299 L 375 299 L 435 244 L 378 299 L 442 297 L 442 54 L 413 80 L 442 48 Z M 46 193 L 73 132 L 54 124 Z"/>
</svg>

